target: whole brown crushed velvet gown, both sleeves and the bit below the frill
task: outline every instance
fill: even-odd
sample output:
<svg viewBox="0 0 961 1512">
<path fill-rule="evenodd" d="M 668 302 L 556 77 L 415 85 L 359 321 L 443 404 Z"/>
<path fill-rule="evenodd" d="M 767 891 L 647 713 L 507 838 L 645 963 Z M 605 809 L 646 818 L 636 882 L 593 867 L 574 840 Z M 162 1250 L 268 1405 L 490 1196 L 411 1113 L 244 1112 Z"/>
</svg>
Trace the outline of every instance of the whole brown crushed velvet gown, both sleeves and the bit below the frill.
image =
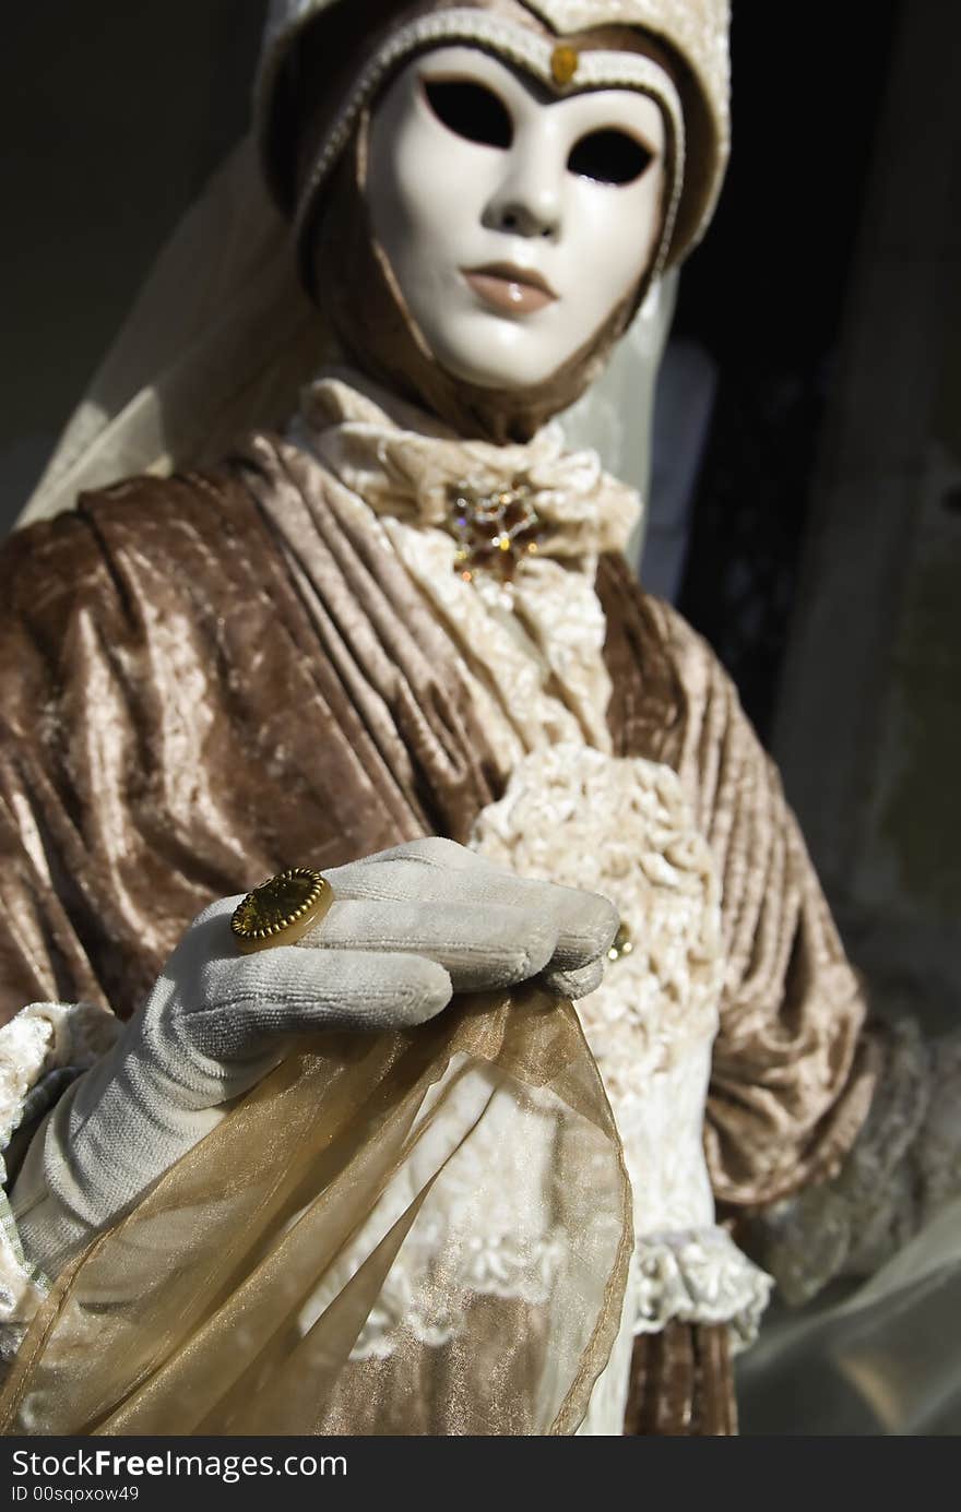
<svg viewBox="0 0 961 1512">
<path fill-rule="evenodd" d="M 135 1012 L 185 925 L 288 865 L 437 833 L 499 797 L 403 567 L 256 435 L 0 553 L 0 1013 Z M 779 786 L 708 647 L 601 559 L 613 750 L 675 768 L 723 888 L 705 1146 L 722 1219 L 831 1175 L 873 1084 L 864 1005 Z M 627 1432 L 736 1430 L 723 1329 L 639 1341 Z"/>
</svg>

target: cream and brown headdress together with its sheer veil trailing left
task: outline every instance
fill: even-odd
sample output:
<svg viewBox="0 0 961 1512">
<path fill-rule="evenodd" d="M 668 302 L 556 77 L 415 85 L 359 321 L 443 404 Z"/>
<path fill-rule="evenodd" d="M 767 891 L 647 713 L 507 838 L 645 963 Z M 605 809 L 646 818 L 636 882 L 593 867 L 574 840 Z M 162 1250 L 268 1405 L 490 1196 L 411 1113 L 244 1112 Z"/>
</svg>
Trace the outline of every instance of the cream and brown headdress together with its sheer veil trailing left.
<svg viewBox="0 0 961 1512">
<path fill-rule="evenodd" d="M 657 73 L 669 135 L 675 127 L 675 169 L 676 150 L 686 144 L 660 254 L 670 268 L 702 234 L 726 162 L 728 9 L 728 0 L 274 0 L 254 91 L 259 156 L 274 206 L 283 206 L 288 216 L 297 213 L 301 230 L 328 191 L 348 201 L 342 234 L 328 239 L 327 253 L 353 277 L 341 278 L 330 263 L 319 269 L 347 295 L 336 308 L 325 301 L 328 313 L 339 316 L 341 340 L 351 336 L 354 355 L 366 357 L 375 376 L 389 386 L 404 376 L 409 392 L 465 431 L 521 435 L 569 405 L 601 372 L 643 290 L 613 313 L 587 352 L 575 354 L 564 372 L 528 396 L 524 413 L 490 416 L 489 395 L 472 396 L 459 386 L 457 398 L 412 336 L 366 233 L 356 163 L 344 148 L 360 145 L 362 116 L 392 68 L 418 48 L 457 38 L 501 51 L 536 77 L 549 70 L 551 88 L 561 91 L 620 83 L 654 92 Z M 669 74 L 652 71 L 651 39 Z M 563 44 L 577 56 L 566 83 L 555 57 Z M 319 116 L 315 112 L 315 135 L 304 138 L 297 89 L 307 54 L 313 67 L 319 60 L 328 107 Z M 669 94 L 680 100 L 680 112 Z M 80 490 L 118 476 L 163 473 L 218 457 L 238 434 L 280 425 L 295 410 L 301 386 L 331 355 L 331 342 L 292 277 L 289 228 L 257 177 L 248 141 L 185 216 L 20 523 L 73 508 Z M 359 277 L 351 253 L 362 259 L 365 274 L 377 272 L 372 283 Z M 362 283 L 366 299 L 360 299 Z M 360 322 L 369 325 L 371 342 L 359 331 Z M 377 360 L 383 343 L 392 361 Z M 646 369 L 655 361 L 657 339 L 642 333 L 639 351 L 634 366 Z M 639 378 L 631 381 L 634 393 L 648 386 Z M 466 413 L 453 408 L 456 399 L 466 404 Z"/>
</svg>

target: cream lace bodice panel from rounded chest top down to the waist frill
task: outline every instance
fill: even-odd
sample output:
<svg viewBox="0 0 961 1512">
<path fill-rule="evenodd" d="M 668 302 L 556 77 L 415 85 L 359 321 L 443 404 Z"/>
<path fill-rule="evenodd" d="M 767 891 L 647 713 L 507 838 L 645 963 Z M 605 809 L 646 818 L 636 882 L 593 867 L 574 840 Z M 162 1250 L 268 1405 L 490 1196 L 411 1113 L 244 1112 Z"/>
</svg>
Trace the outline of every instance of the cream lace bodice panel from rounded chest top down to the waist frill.
<svg viewBox="0 0 961 1512">
<path fill-rule="evenodd" d="M 722 986 L 719 885 L 676 776 L 584 745 L 533 751 L 472 845 L 610 898 L 633 951 L 577 1004 L 611 1099 L 639 1235 L 704 1228 L 704 1099 Z"/>
</svg>

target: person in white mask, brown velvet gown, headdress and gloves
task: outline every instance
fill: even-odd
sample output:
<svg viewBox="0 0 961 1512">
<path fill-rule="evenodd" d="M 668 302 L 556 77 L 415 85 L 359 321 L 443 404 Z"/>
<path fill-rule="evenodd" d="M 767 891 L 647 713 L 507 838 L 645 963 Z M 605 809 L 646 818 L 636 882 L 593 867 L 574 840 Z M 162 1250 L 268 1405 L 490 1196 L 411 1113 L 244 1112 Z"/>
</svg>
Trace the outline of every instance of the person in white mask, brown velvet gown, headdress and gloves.
<svg viewBox="0 0 961 1512">
<path fill-rule="evenodd" d="M 731 1433 L 739 1238 L 884 1258 L 958 1070 L 554 423 L 710 219 L 726 5 L 277 0 L 257 138 L 330 331 L 241 150 L 0 561 L 0 1415 Z"/>
</svg>

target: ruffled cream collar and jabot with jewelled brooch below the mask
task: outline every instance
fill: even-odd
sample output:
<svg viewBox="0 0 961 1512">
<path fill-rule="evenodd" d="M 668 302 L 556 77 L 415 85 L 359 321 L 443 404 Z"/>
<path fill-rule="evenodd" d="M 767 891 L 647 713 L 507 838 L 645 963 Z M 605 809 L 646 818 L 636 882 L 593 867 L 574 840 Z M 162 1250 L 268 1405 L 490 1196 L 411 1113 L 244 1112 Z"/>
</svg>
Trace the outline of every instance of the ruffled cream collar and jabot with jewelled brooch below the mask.
<svg viewBox="0 0 961 1512">
<path fill-rule="evenodd" d="M 598 553 L 620 549 L 639 517 L 633 488 L 595 452 L 566 451 L 557 425 L 527 445 L 465 442 L 344 370 L 304 392 L 291 440 L 345 507 L 374 513 L 448 629 L 504 777 L 545 742 L 610 747 L 595 576 Z M 493 570 L 471 570 L 478 543 Z"/>
</svg>

